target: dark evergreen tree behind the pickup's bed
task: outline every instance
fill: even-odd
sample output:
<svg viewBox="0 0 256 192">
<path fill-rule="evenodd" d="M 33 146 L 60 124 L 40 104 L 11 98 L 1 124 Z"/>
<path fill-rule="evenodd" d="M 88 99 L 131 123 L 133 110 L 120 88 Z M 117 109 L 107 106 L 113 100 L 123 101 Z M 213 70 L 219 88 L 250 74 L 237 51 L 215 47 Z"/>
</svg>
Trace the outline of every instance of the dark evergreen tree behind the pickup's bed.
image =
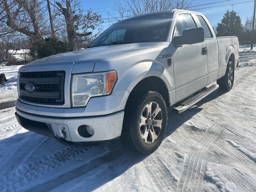
<svg viewBox="0 0 256 192">
<path fill-rule="evenodd" d="M 221 23 L 216 27 L 217 36 L 240 36 L 243 31 L 241 18 L 234 11 L 229 11 L 224 14 Z"/>
</svg>

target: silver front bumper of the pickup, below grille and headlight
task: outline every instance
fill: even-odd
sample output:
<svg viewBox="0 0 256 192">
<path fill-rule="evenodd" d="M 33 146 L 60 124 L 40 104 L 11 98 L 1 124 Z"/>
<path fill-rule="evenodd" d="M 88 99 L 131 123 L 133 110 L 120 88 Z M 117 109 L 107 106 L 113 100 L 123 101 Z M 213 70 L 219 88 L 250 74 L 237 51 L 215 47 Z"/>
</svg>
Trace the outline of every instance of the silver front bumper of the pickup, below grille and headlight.
<svg viewBox="0 0 256 192">
<path fill-rule="evenodd" d="M 16 118 L 21 126 L 38 134 L 42 134 L 64 142 L 99 142 L 120 137 L 124 111 L 108 115 L 88 117 L 52 117 L 23 112 L 16 108 Z M 78 134 L 78 127 L 88 125 L 94 129 L 91 137 L 85 138 Z"/>
</svg>

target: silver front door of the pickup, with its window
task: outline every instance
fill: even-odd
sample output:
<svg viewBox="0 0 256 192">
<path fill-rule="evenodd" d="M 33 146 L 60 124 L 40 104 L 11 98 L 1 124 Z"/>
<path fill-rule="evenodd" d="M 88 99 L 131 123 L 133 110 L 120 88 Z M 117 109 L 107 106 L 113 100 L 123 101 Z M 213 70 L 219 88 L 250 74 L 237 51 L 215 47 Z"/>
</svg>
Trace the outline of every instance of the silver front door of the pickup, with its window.
<svg viewBox="0 0 256 192">
<path fill-rule="evenodd" d="M 183 30 L 198 25 L 189 12 L 178 12 L 175 16 L 173 36 L 182 35 Z M 174 64 L 175 101 L 178 102 L 204 88 L 207 83 L 207 54 L 203 53 L 206 42 L 182 45 L 178 48 L 170 44 Z"/>
</svg>

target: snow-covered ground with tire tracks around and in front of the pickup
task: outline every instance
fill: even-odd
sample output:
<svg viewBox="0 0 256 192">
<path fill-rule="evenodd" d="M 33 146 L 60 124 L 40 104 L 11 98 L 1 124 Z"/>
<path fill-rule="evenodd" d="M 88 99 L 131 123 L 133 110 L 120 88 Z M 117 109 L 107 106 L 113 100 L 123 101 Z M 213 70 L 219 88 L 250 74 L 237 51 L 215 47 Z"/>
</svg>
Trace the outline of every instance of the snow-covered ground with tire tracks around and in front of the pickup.
<svg viewBox="0 0 256 192">
<path fill-rule="evenodd" d="M 0 191 L 256 191 L 256 61 L 244 54 L 230 92 L 216 90 L 182 114 L 168 109 L 149 156 L 116 140 L 70 147 L 22 128 L 0 110 Z"/>
</svg>

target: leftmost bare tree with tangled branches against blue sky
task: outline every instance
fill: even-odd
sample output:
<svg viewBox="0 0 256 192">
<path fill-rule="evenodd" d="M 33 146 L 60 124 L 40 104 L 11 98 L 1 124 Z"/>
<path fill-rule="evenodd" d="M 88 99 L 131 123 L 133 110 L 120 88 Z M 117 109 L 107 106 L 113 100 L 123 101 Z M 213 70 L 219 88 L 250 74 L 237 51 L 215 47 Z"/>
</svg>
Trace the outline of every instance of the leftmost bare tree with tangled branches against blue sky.
<svg viewBox="0 0 256 192">
<path fill-rule="evenodd" d="M 49 34 L 48 23 L 44 14 L 44 0 L 3 0 L 1 7 L 2 26 L 0 35 L 12 33 L 24 35 L 34 42 L 42 44 L 43 36 Z M 36 58 L 36 48 L 31 51 Z"/>
</svg>

